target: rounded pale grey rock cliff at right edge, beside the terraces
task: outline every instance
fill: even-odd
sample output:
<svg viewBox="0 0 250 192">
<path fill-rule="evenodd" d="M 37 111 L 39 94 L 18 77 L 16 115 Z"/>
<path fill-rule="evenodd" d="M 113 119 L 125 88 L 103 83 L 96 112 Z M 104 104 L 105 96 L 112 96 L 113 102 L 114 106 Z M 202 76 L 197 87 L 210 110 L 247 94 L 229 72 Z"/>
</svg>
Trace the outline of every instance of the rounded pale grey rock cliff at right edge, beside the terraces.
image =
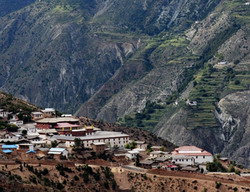
<svg viewBox="0 0 250 192">
<path fill-rule="evenodd" d="M 225 143 L 221 154 L 230 156 L 239 164 L 249 165 L 250 91 L 230 94 L 223 98 L 218 106 L 218 119 Z"/>
</svg>

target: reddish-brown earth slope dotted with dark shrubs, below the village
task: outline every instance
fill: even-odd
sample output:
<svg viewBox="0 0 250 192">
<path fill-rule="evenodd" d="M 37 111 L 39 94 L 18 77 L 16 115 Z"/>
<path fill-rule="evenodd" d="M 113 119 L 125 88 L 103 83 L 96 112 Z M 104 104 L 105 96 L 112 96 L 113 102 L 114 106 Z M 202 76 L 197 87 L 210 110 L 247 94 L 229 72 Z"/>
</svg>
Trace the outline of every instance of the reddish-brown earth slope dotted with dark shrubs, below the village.
<svg viewBox="0 0 250 192">
<path fill-rule="evenodd" d="M 135 171 L 121 167 L 72 163 L 8 164 L 0 172 L 1 191 L 249 191 L 249 179 L 237 175 L 204 175 L 166 170 Z"/>
</svg>

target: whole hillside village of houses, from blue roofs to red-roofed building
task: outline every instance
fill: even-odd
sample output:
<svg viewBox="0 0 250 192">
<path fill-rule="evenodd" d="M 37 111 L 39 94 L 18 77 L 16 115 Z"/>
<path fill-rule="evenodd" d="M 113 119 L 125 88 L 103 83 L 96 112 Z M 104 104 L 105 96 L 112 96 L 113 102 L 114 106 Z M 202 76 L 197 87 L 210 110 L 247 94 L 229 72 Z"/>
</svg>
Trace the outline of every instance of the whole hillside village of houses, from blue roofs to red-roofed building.
<svg viewBox="0 0 250 192">
<path fill-rule="evenodd" d="M 3 119 L 10 114 L 0 110 L 0 117 Z M 18 156 L 28 159 L 67 159 L 76 145 L 75 142 L 80 141 L 82 147 L 96 154 L 112 151 L 114 148 L 120 149 L 112 154 L 115 160 L 125 159 L 131 162 L 139 159 L 139 166 L 147 169 L 181 168 L 195 171 L 198 168 L 205 169 L 206 163 L 213 161 L 211 153 L 195 146 L 182 146 L 172 152 L 166 152 L 162 146 L 149 148 L 145 141 L 133 141 L 136 147 L 133 150 L 126 149 L 126 145 L 132 142 L 129 135 L 82 125 L 80 120 L 72 115 L 56 117 L 53 108 L 32 112 L 31 116 L 34 122 L 18 124 L 17 132 L 0 130 L 0 158 Z"/>
</svg>

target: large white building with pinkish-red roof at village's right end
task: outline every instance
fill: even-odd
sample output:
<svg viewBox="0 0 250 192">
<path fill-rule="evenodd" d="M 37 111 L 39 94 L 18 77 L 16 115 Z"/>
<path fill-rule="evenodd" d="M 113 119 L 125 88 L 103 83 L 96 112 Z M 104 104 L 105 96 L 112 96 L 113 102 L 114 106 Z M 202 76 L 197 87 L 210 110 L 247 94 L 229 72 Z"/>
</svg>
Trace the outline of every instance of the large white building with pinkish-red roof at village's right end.
<svg viewBox="0 0 250 192">
<path fill-rule="evenodd" d="M 196 146 L 182 146 L 172 152 L 173 159 L 181 159 L 181 162 L 191 162 L 187 158 L 192 158 L 195 164 L 213 162 L 213 155 Z M 186 159 L 185 159 L 186 158 Z M 188 163 L 186 163 L 188 164 Z"/>
</svg>

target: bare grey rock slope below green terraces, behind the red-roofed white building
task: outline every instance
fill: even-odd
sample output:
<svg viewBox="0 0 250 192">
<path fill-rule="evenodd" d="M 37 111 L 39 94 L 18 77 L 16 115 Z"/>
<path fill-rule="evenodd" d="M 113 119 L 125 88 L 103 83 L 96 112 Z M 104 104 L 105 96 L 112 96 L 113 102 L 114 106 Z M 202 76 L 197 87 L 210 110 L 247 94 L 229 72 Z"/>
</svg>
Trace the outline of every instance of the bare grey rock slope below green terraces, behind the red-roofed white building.
<svg viewBox="0 0 250 192">
<path fill-rule="evenodd" d="M 219 129 L 187 129 L 187 111 L 177 109 L 173 115 L 163 117 L 154 129 L 158 137 L 167 139 L 178 146 L 196 145 L 213 153 L 224 147 Z"/>
</svg>

